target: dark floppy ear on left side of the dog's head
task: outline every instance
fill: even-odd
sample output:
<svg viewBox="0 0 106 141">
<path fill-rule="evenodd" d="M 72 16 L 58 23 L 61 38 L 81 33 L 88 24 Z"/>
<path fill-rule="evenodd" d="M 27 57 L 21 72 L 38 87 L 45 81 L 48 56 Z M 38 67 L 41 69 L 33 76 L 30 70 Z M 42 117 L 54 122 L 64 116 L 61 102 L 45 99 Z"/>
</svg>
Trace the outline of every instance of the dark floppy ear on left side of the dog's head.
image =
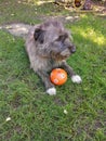
<svg viewBox="0 0 106 141">
<path fill-rule="evenodd" d="M 44 41 L 44 30 L 41 28 L 36 28 L 34 33 L 34 38 L 36 41 L 39 41 L 40 43 L 43 43 Z"/>
</svg>

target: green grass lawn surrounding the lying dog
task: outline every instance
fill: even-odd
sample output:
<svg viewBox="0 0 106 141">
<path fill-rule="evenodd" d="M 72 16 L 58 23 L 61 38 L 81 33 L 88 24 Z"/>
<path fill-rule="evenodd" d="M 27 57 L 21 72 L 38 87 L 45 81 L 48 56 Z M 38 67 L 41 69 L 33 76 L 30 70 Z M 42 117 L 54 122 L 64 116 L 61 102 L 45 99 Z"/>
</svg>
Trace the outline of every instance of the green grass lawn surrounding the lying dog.
<svg viewBox="0 0 106 141">
<path fill-rule="evenodd" d="M 106 141 L 106 15 L 70 13 L 37 1 L 0 1 L 0 25 L 70 14 L 79 17 L 65 23 L 77 52 L 67 62 L 82 84 L 68 77 L 54 97 L 29 69 L 24 40 L 0 29 L 0 141 Z"/>
</svg>

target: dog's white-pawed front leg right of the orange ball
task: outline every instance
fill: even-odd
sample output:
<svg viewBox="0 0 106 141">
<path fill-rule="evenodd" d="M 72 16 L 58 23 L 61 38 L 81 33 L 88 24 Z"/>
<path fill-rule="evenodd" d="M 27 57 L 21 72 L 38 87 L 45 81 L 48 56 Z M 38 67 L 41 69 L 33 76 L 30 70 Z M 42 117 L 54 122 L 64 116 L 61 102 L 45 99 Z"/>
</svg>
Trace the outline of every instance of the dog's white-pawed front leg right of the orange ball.
<svg viewBox="0 0 106 141">
<path fill-rule="evenodd" d="M 81 84 L 82 79 L 79 75 L 76 75 L 72 68 L 66 63 L 62 63 L 62 67 L 68 73 L 68 75 L 71 77 L 72 82 Z"/>
</svg>

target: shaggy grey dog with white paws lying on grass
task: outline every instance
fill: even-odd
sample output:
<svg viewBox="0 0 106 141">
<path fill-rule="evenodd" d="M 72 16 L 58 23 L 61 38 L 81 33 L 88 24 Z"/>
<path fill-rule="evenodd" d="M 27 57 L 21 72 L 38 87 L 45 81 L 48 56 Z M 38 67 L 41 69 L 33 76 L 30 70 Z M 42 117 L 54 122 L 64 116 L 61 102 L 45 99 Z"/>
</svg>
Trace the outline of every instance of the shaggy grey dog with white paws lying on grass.
<svg viewBox="0 0 106 141">
<path fill-rule="evenodd" d="M 66 59 L 76 52 L 71 35 L 57 21 L 45 22 L 31 27 L 26 39 L 26 51 L 30 67 L 44 82 L 47 93 L 56 94 L 55 86 L 50 80 L 49 72 L 62 67 L 74 82 L 80 84 L 80 76 L 66 63 Z"/>
</svg>

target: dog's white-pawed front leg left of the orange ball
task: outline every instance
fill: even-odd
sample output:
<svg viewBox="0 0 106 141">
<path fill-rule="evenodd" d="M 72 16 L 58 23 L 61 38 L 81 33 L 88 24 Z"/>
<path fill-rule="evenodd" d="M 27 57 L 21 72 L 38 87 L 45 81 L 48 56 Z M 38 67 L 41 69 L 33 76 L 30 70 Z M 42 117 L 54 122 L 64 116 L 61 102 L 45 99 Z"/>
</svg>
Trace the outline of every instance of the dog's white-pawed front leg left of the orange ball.
<svg viewBox="0 0 106 141">
<path fill-rule="evenodd" d="M 47 89 L 47 93 L 50 95 L 55 95 L 56 94 L 56 89 L 54 87 L 54 85 L 51 82 L 49 75 L 47 74 L 47 72 L 44 70 L 38 70 L 37 74 L 40 76 L 40 78 L 42 79 L 45 89 Z"/>
</svg>

